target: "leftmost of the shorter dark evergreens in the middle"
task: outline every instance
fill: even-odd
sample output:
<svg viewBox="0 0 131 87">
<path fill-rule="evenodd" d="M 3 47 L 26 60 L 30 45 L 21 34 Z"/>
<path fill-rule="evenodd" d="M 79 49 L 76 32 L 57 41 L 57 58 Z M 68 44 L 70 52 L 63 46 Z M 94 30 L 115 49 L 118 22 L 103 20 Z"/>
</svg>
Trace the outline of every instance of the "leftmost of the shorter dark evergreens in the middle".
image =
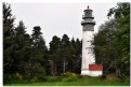
<svg viewBox="0 0 131 87">
<path fill-rule="evenodd" d="M 51 74 L 53 76 L 61 73 L 61 39 L 54 35 L 50 42 L 50 64 L 51 64 Z M 57 70 L 58 68 L 58 70 Z"/>
</svg>

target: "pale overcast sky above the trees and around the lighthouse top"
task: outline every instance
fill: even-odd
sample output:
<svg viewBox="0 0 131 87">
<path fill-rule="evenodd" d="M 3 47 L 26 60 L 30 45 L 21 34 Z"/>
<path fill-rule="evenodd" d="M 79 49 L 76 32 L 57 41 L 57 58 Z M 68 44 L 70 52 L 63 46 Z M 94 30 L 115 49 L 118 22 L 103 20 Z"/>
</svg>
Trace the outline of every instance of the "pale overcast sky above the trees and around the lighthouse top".
<svg viewBox="0 0 131 87">
<path fill-rule="evenodd" d="M 26 31 L 31 34 L 35 26 L 41 27 L 41 32 L 47 45 L 53 35 L 62 38 L 66 33 L 69 38 L 82 38 L 82 15 L 87 6 L 93 10 L 96 25 L 94 31 L 101 24 L 107 20 L 107 13 L 116 3 L 11 3 L 12 13 L 25 23 Z"/>
</svg>

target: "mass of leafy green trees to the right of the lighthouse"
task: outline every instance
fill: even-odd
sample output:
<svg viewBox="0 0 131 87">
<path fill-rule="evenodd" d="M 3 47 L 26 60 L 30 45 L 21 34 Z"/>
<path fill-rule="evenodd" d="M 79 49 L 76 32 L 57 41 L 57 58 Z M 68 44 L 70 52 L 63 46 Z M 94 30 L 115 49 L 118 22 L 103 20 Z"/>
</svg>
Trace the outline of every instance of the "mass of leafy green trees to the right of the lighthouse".
<svg viewBox="0 0 131 87">
<path fill-rule="evenodd" d="M 107 16 L 94 37 L 96 62 L 103 63 L 104 74 L 130 77 L 130 3 L 117 3 Z"/>
</svg>

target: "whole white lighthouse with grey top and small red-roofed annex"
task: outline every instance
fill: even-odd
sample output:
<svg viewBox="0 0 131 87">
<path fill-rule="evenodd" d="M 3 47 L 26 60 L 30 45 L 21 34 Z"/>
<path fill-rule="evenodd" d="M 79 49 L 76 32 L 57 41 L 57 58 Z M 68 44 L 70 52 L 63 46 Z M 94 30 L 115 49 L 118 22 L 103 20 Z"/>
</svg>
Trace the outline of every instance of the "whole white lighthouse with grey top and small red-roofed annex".
<svg viewBox="0 0 131 87">
<path fill-rule="evenodd" d="M 95 63 L 95 55 L 93 53 L 92 41 L 94 38 L 95 21 L 92 16 L 92 10 L 87 8 L 82 15 L 82 62 L 81 75 L 100 76 L 102 75 L 103 66 Z"/>
</svg>

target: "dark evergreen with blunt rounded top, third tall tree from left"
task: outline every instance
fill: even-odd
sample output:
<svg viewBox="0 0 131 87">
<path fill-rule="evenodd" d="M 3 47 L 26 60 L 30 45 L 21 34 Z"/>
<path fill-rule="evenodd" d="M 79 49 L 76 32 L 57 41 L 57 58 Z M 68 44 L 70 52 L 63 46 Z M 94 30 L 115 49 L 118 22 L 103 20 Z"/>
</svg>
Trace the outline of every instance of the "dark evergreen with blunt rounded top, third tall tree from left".
<svg viewBox="0 0 131 87">
<path fill-rule="evenodd" d="M 45 75 L 45 70 L 42 62 L 44 61 L 44 55 L 48 50 L 40 30 L 41 28 L 39 26 L 34 27 L 31 34 L 31 55 L 29 59 L 31 70 L 30 75 L 37 76 L 38 78 Z"/>
</svg>

